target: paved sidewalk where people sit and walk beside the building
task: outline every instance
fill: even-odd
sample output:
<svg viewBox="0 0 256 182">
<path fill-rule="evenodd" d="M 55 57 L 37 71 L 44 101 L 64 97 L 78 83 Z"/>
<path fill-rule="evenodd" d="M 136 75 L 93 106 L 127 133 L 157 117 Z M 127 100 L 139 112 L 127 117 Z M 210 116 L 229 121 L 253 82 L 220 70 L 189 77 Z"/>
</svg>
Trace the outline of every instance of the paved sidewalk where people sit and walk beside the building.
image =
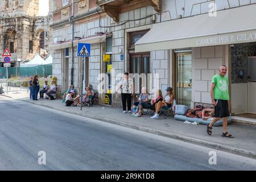
<svg viewBox="0 0 256 182">
<path fill-rule="evenodd" d="M 112 107 L 95 105 L 93 107 L 82 107 L 81 111 L 80 107 L 65 107 L 65 103 L 60 100 L 32 101 L 24 97 L 21 100 L 65 111 L 66 113 L 77 114 L 256 159 L 256 126 L 233 122 L 228 125 L 228 131 L 234 136 L 233 139 L 221 137 L 222 127 L 213 127 L 213 135 L 211 137 L 206 133 L 207 128 L 205 125 L 186 124 L 171 117 L 161 116 L 159 119 L 151 119 L 150 115 L 143 115 L 140 118 L 134 118 L 130 117 L 129 114 L 123 114 L 122 109 L 114 109 Z"/>
</svg>

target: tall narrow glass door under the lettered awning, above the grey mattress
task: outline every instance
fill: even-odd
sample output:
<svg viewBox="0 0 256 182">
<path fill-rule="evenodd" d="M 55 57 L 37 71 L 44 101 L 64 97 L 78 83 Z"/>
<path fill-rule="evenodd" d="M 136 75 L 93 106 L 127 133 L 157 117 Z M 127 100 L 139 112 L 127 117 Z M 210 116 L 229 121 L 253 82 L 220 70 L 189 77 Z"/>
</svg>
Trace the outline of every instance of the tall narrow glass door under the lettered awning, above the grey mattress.
<svg viewBox="0 0 256 182">
<path fill-rule="evenodd" d="M 191 105 L 192 69 L 191 53 L 176 54 L 176 101 L 177 104 Z"/>
</svg>

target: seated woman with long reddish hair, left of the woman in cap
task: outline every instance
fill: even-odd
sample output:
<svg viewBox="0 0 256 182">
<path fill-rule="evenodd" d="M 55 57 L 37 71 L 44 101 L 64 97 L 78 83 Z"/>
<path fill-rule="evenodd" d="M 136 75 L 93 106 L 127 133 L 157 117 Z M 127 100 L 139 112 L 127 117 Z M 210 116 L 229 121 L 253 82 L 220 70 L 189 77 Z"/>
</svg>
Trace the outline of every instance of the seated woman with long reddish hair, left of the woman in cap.
<svg viewBox="0 0 256 182">
<path fill-rule="evenodd" d="M 138 106 L 139 111 L 134 115 L 134 117 L 141 117 L 143 109 L 155 110 L 155 104 L 157 104 L 159 101 L 163 101 L 162 90 L 156 90 L 155 98 L 150 102 L 140 102 Z"/>
</svg>

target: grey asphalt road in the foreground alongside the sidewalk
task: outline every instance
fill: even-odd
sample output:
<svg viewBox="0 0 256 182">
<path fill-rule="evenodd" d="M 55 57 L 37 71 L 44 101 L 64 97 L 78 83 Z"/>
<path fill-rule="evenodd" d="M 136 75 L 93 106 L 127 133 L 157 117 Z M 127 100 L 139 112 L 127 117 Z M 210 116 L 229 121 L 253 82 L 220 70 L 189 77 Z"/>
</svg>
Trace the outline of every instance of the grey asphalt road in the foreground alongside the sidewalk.
<svg viewBox="0 0 256 182">
<path fill-rule="evenodd" d="M 210 151 L 0 96 L 0 170 L 256 170 L 256 160 L 222 151 L 210 165 Z"/>
</svg>

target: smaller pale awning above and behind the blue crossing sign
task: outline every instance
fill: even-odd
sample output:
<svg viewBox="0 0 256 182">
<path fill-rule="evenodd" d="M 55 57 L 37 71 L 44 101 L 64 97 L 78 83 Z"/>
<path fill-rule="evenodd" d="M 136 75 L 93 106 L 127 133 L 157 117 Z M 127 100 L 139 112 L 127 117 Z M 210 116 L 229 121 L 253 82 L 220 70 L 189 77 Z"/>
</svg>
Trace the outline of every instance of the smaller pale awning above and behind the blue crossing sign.
<svg viewBox="0 0 256 182">
<path fill-rule="evenodd" d="M 96 35 L 96 36 L 91 36 L 88 38 L 84 39 L 79 39 L 79 40 L 74 40 L 73 45 L 77 46 L 78 43 L 88 43 L 88 44 L 96 44 L 96 43 L 101 43 L 106 41 L 106 34 L 104 35 Z M 59 43 L 59 44 L 53 44 L 52 46 L 49 46 L 51 50 L 56 50 L 56 49 L 64 49 L 72 47 L 72 42 L 65 42 L 65 43 Z"/>
</svg>

